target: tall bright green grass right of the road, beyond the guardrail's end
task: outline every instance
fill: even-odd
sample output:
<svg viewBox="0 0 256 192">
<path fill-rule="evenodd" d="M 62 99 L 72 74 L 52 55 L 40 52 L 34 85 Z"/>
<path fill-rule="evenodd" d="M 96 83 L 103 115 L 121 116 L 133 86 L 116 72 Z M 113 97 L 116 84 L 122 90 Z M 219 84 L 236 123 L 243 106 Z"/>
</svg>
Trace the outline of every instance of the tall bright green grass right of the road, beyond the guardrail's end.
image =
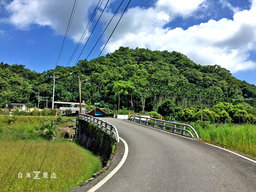
<svg viewBox="0 0 256 192">
<path fill-rule="evenodd" d="M 199 138 L 224 148 L 256 158 L 256 126 L 255 125 L 211 125 L 204 128 L 196 123 L 191 124 Z"/>
</svg>

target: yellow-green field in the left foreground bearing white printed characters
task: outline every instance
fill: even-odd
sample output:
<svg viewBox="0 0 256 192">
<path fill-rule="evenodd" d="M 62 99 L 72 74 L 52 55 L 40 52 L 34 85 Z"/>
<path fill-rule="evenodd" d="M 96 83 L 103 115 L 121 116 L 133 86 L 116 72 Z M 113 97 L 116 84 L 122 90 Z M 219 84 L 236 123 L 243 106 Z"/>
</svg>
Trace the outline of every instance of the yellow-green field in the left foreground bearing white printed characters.
<svg viewBox="0 0 256 192">
<path fill-rule="evenodd" d="M 0 145 L 1 191 L 68 191 L 101 168 L 100 158 L 72 142 L 2 140 Z M 41 179 L 34 179 L 39 171 Z"/>
</svg>

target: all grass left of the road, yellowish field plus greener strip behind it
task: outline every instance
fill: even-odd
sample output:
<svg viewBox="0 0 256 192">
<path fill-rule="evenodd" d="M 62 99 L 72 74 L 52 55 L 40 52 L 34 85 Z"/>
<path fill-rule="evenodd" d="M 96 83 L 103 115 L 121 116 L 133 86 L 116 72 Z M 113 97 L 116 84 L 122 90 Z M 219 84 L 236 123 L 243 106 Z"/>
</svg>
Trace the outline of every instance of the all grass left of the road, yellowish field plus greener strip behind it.
<svg viewBox="0 0 256 192">
<path fill-rule="evenodd" d="M 74 142 L 44 139 L 44 122 L 45 117 L 24 116 L 8 124 L 0 116 L 1 191 L 68 191 L 100 170 L 100 158 Z M 40 179 L 34 179 L 34 172 L 40 172 Z M 46 172 L 48 178 L 43 178 Z M 31 178 L 26 178 L 27 173 Z M 52 173 L 56 178 L 51 178 Z"/>
</svg>

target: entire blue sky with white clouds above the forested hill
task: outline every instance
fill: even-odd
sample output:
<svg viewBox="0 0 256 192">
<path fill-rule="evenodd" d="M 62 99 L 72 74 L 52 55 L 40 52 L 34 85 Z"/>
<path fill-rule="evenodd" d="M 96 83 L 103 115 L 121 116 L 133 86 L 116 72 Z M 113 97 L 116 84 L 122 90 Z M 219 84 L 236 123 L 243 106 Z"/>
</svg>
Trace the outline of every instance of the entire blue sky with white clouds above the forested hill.
<svg viewBox="0 0 256 192">
<path fill-rule="evenodd" d="M 76 64 L 102 6 L 69 66 Z M 98 57 L 123 6 L 88 58 Z M 55 68 L 75 0 L 0 0 L 0 62 L 43 72 Z M 98 1 L 79 0 L 58 65 L 66 66 Z M 110 0 L 80 59 L 85 59 L 121 0 Z M 256 0 L 132 0 L 101 55 L 120 46 L 177 51 L 220 65 L 256 84 Z"/>
</svg>

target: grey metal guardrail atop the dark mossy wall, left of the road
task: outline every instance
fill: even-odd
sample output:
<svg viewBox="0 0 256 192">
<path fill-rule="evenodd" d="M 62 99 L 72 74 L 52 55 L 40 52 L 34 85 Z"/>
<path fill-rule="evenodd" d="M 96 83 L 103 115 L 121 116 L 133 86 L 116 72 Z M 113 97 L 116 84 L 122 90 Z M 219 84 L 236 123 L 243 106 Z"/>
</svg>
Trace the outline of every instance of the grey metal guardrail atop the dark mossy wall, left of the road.
<svg viewBox="0 0 256 192">
<path fill-rule="evenodd" d="M 100 128 L 100 130 L 105 131 L 105 133 L 110 132 L 110 137 L 112 138 L 115 135 L 116 142 L 119 142 L 119 135 L 116 127 L 106 121 L 101 120 L 100 118 L 90 116 L 87 114 L 79 113 L 77 116 L 77 119 L 81 119 L 84 121 L 87 121 L 91 123 L 92 125 L 95 125 Z"/>
</svg>

